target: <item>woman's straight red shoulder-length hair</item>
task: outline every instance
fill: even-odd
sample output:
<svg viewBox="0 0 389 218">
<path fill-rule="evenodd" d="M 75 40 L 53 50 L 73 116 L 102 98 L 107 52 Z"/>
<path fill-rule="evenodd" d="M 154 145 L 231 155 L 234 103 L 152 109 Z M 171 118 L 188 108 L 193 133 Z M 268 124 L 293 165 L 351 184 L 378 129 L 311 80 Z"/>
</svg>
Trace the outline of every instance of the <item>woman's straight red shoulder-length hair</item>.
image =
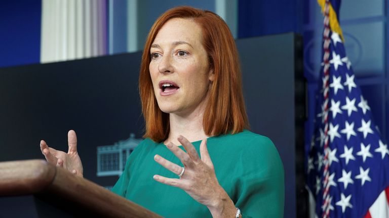
<svg viewBox="0 0 389 218">
<path fill-rule="evenodd" d="M 170 132 L 169 114 L 162 112 L 155 98 L 149 64 L 150 47 L 162 26 L 172 18 L 191 19 L 203 31 L 203 46 L 215 79 L 209 89 L 203 127 L 207 135 L 238 133 L 249 128 L 242 92 L 238 50 L 227 24 L 215 13 L 191 7 L 177 7 L 162 14 L 153 24 L 144 45 L 139 75 L 139 93 L 145 120 L 145 134 L 156 142 Z"/>
</svg>

